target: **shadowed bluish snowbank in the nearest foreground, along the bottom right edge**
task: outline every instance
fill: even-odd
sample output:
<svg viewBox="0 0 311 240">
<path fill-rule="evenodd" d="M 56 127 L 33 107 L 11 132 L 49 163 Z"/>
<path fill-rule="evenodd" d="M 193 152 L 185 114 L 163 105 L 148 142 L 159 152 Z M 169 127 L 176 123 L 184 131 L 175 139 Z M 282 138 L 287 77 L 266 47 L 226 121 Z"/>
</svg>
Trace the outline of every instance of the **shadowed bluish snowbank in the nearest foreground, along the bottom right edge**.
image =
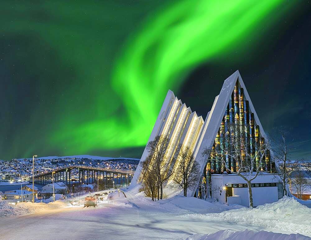
<svg viewBox="0 0 311 240">
<path fill-rule="evenodd" d="M 253 239 L 253 240 L 262 240 L 262 239 L 274 239 L 274 240 L 307 240 L 310 239 L 301 234 L 283 234 L 283 233 L 273 233 L 267 231 L 255 232 L 252 230 L 244 230 L 244 231 L 233 231 L 233 230 L 220 230 L 216 233 L 211 234 L 194 234 L 192 237 L 187 238 L 191 240 L 218 240 L 218 239 Z"/>
</svg>

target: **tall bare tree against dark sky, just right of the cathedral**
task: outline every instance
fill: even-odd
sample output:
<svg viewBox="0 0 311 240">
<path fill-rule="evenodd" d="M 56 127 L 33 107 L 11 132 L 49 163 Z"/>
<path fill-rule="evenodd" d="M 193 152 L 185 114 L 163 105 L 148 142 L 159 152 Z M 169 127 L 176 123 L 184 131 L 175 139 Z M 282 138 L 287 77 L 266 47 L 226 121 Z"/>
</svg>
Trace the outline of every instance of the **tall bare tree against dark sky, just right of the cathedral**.
<svg viewBox="0 0 311 240">
<path fill-rule="evenodd" d="M 287 131 L 280 130 L 280 136 L 273 140 L 274 145 L 274 158 L 273 161 L 275 162 L 277 168 L 277 172 L 274 173 L 275 176 L 279 177 L 283 184 L 283 192 L 284 196 L 287 195 L 287 189 L 290 182 L 290 176 L 294 172 L 299 172 L 299 161 L 293 161 L 290 157 L 291 152 L 295 149 L 295 147 L 290 147 L 287 143 Z"/>
</svg>

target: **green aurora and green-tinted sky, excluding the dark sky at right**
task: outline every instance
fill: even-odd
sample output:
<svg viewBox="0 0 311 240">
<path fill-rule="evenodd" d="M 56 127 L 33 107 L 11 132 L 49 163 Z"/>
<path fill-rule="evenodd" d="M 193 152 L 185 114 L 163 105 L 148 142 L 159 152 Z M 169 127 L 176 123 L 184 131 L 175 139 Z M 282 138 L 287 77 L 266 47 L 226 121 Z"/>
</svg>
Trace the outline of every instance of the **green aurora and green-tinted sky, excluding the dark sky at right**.
<svg viewBox="0 0 311 240">
<path fill-rule="evenodd" d="M 146 144 L 167 90 L 179 97 L 196 67 L 237 48 L 251 53 L 253 40 L 263 41 L 294 2 L 2 6 L 1 105 L 8 114 L 1 116 L 0 159 L 12 159 L 100 152 L 139 157 L 130 149 Z"/>
</svg>

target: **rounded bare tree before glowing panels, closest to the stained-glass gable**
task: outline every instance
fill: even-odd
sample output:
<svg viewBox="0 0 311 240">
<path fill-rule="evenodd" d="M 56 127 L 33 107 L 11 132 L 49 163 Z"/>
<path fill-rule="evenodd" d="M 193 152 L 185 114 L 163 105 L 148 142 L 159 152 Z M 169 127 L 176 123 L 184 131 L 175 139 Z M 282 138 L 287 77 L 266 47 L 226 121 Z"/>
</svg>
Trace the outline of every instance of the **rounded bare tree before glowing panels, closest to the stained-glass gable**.
<svg viewBox="0 0 311 240">
<path fill-rule="evenodd" d="M 190 148 L 178 145 L 175 154 L 175 166 L 172 180 L 179 189 L 183 189 L 183 196 L 187 196 L 187 190 L 197 187 L 197 179 L 200 174 L 200 165 L 194 159 Z"/>
</svg>

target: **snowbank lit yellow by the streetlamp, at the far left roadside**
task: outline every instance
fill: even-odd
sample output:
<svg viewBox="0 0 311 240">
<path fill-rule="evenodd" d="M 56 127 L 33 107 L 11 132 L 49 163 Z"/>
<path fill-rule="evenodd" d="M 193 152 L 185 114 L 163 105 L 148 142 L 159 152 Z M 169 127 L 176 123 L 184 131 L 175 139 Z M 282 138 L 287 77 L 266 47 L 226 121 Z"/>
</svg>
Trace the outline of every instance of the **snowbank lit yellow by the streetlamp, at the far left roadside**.
<svg viewBox="0 0 311 240">
<path fill-rule="evenodd" d="M 64 208 L 66 206 L 68 206 L 68 203 L 62 201 L 55 201 L 48 204 L 21 202 L 18 203 L 17 205 L 11 205 L 7 203 L 7 201 L 0 201 L 0 218 L 6 216 L 37 213 L 45 210 Z"/>
</svg>

